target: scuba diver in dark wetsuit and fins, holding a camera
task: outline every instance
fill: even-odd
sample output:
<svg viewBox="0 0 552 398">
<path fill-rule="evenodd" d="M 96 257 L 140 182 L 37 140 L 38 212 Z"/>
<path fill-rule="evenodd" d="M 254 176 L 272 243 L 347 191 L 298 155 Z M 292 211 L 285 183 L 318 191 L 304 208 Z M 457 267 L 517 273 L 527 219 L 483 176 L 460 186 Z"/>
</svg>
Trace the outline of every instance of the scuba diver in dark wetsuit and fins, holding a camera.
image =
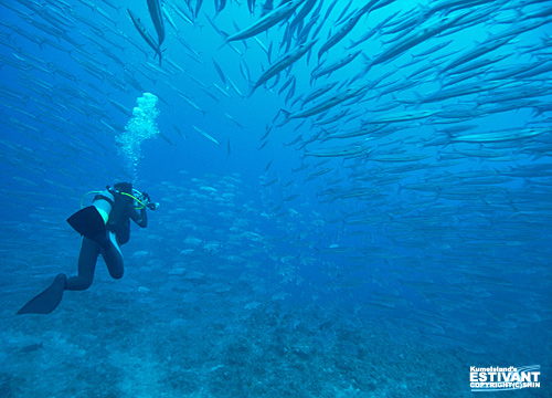
<svg viewBox="0 0 552 398">
<path fill-rule="evenodd" d="M 118 182 L 113 188 L 107 186 L 105 191 L 92 193 L 97 193 L 92 206 L 81 209 L 67 219 L 71 227 L 83 235 L 78 275 L 67 279 L 64 273 L 57 274 L 45 291 L 18 311 L 18 315 L 50 314 L 62 301 L 64 291 L 88 289 L 94 279 L 98 254 L 104 258 L 113 279 L 123 277 L 123 255 L 119 247 L 130 239 L 130 220 L 146 228 L 146 208 L 157 210 L 159 203 L 151 202 L 148 193 L 132 189 L 130 182 Z"/>
</svg>

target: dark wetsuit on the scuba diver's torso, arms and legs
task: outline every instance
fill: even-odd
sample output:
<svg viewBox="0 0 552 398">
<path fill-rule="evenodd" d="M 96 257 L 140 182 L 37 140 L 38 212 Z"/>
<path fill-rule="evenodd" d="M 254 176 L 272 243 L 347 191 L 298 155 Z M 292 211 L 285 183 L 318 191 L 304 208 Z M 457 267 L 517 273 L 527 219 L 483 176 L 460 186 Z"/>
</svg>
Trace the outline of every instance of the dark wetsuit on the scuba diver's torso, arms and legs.
<svg viewBox="0 0 552 398">
<path fill-rule="evenodd" d="M 125 269 L 119 245 L 130 239 L 130 219 L 139 227 L 146 228 L 148 217 L 146 209 L 142 208 L 140 212 L 135 209 L 131 198 L 120 193 L 114 193 L 114 198 L 115 203 L 106 224 L 109 237 L 106 235 L 102 242 L 83 237 L 78 255 L 78 276 L 67 279 L 65 290 L 83 291 L 91 286 L 98 254 L 104 258 L 112 277 L 123 277 Z"/>
</svg>

